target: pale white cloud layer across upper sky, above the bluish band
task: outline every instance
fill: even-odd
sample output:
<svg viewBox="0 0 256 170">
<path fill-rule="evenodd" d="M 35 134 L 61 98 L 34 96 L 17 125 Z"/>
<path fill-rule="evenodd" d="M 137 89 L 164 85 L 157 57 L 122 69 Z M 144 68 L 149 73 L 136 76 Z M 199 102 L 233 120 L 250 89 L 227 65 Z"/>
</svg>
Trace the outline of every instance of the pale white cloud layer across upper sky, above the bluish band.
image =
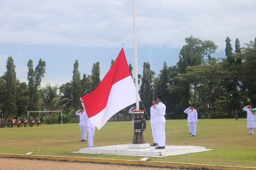
<svg viewBox="0 0 256 170">
<path fill-rule="evenodd" d="M 212 40 L 224 50 L 254 40 L 255 0 L 136 1 L 137 44 L 182 47 L 184 38 Z M 133 47 L 132 2 L 122 0 L 3 0 L 0 42 Z M 149 29 L 149 33 L 148 33 Z"/>
</svg>

